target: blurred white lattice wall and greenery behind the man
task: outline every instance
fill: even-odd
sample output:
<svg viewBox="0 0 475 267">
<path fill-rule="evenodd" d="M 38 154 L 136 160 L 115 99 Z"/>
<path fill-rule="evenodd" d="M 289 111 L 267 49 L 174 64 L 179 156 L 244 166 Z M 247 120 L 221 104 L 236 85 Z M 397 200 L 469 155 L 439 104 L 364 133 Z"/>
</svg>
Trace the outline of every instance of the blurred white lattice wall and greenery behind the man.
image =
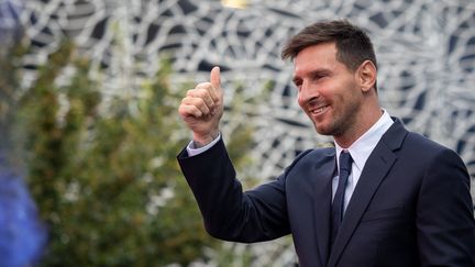
<svg viewBox="0 0 475 267">
<path fill-rule="evenodd" d="M 279 55 L 303 26 L 336 18 L 373 38 L 382 105 L 456 151 L 474 181 L 473 0 L 0 0 L 1 189 L 24 197 L 19 218 L 32 222 L 26 237 L 0 231 L 0 256 L 23 260 L 3 265 L 294 266 L 290 237 L 205 233 L 175 159 L 190 140 L 177 107 L 219 65 L 240 178 L 272 179 L 331 145 Z"/>
</svg>

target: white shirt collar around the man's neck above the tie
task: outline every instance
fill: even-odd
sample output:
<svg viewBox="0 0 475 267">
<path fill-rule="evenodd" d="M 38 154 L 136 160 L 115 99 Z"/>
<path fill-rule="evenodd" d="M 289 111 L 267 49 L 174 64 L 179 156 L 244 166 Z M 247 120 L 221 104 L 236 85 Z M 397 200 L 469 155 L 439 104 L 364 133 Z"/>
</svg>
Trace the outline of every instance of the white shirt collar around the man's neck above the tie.
<svg viewBox="0 0 475 267">
<path fill-rule="evenodd" d="M 383 134 L 393 125 L 394 121 L 386 110 L 383 109 L 383 115 L 379 120 L 364 133 L 360 138 L 357 138 L 349 148 L 353 163 L 356 168 L 362 171 L 363 167 L 369 157 L 373 149 L 376 147 Z M 336 158 L 340 157 L 340 153 L 344 149 L 336 142 L 334 142 L 336 148 Z M 338 160 L 336 160 L 338 163 Z M 339 163 L 338 163 L 339 164 Z M 340 166 L 338 166 L 340 167 Z"/>
</svg>

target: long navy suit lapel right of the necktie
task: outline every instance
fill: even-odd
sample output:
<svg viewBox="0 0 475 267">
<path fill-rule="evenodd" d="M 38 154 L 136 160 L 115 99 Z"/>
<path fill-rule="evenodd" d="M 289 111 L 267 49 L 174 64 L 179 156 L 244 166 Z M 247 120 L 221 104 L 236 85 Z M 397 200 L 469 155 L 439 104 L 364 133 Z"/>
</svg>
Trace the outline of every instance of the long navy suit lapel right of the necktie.
<svg viewBox="0 0 475 267">
<path fill-rule="evenodd" d="M 396 120 L 393 126 L 383 135 L 378 145 L 369 155 L 361 174 L 360 180 L 346 208 L 345 215 L 331 249 L 329 267 L 335 266 L 346 244 L 353 235 L 374 193 L 386 177 L 397 157 L 394 154 L 402 144 L 407 131 L 401 122 Z"/>
</svg>

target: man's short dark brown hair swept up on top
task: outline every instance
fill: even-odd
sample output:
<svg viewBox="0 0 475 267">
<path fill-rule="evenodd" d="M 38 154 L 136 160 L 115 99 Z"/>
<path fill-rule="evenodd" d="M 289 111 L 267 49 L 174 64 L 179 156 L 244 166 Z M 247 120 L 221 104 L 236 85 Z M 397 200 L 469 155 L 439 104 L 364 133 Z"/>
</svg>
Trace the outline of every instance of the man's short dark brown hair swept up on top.
<svg viewBox="0 0 475 267">
<path fill-rule="evenodd" d="M 349 69 L 356 70 L 365 60 L 371 60 L 377 68 L 376 55 L 368 35 L 346 20 L 321 21 L 305 27 L 287 42 L 281 58 L 294 59 L 303 48 L 332 42 L 336 46 L 336 59 Z"/>
</svg>

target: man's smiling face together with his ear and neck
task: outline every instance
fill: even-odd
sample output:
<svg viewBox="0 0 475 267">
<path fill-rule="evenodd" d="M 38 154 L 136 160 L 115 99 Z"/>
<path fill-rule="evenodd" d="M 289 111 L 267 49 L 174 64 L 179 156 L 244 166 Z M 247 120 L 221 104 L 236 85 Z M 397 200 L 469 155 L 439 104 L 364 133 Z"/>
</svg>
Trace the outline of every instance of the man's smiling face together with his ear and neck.
<svg viewBox="0 0 475 267">
<path fill-rule="evenodd" d="M 333 42 L 302 48 L 295 56 L 294 82 L 317 132 L 349 147 L 383 112 L 374 87 L 375 63 L 362 58 L 361 66 L 350 69 L 336 55 Z"/>
</svg>

